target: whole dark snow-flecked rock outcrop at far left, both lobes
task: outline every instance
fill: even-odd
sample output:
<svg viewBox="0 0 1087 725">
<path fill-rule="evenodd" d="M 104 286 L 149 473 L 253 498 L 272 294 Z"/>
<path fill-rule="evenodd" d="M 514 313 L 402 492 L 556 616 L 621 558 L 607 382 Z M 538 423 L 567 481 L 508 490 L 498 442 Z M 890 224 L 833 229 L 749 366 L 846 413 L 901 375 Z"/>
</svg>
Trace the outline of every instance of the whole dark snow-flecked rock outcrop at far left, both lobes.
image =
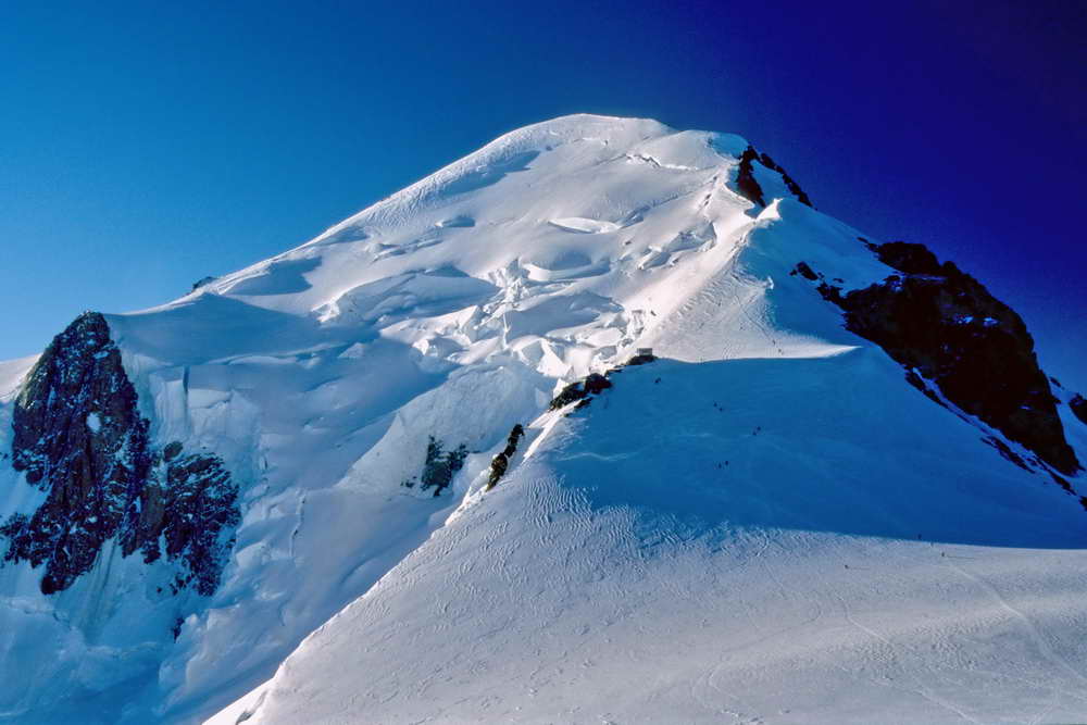
<svg viewBox="0 0 1087 725">
<path fill-rule="evenodd" d="M 5 561 L 45 565 L 41 591 L 72 586 L 114 537 L 123 555 L 166 557 L 183 570 L 175 590 L 210 595 L 239 520 L 238 488 L 211 454 L 163 453 L 148 437 L 136 390 L 110 339 L 105 318 L 80 315 L 30 371 L 15 402 L 12 465 L 48 491 L 32 515 L 0 526 Z"/>
</svg>

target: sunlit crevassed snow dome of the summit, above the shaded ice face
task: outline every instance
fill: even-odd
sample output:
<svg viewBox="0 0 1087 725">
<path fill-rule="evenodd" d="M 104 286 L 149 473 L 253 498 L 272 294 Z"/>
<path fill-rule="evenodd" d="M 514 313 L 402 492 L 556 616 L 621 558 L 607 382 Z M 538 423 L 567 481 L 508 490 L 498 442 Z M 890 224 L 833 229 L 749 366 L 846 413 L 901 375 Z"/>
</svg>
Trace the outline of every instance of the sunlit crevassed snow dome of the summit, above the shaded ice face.
<svg viewBox="0 0 1087 725">
<path fill-rule="evenodd" d="M 337 339 L 382 335 L 453 363 L 584 375 L 639 339 L 675 337 L 664 321 L 729 264 L 759 211 L 729 188 L 745 148 L 651 121 L 560 118 L 197 295 L 312 315 Z M 789 196 L 760 174 L 767 196 Z"/>
</svg>

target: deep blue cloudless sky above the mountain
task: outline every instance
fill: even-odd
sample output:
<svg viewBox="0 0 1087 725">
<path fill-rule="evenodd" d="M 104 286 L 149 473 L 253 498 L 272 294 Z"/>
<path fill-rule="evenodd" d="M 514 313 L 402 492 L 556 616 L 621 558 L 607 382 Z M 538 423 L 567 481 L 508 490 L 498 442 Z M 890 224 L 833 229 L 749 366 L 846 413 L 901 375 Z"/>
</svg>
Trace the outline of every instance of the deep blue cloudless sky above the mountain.
<svg viewBox="0 0 1087 725">
<path fill-rule="evenodd" d="M 744 135 L 975 274 L 1087 389 L 1087 3 L 886 4 L 9 0 L 0 359 L 586 111 Z"/>
</svg>

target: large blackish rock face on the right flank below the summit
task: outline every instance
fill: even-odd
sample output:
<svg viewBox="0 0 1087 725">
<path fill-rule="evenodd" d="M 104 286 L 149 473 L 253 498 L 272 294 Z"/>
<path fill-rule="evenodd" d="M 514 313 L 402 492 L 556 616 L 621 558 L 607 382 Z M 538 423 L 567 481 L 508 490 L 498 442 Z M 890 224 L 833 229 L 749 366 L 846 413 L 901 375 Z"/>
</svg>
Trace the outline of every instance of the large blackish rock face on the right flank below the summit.
<svg viewBox="0 0 1087 725">
<path fill-rule="evenodd" d="M 922 245 L 867 246 L 901 274 L 845 295 L 820 275 L 819 291 L 845 311 L 846 327 L 1057 471 L 1078 471 L 1023 320 Z"/>
</svg>

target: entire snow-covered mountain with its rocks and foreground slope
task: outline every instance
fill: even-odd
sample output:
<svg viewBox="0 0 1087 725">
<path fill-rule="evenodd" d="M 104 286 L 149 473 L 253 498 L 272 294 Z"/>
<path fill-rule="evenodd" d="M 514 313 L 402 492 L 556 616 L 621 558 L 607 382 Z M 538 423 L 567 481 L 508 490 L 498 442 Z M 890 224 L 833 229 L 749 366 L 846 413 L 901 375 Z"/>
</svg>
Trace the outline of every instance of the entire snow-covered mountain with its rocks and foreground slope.
<svg viewBox="0 0 1087 725">
<path fill-rule="evenodd" d="M 1087 403 L 738 136 L 513 132 L 0 395 L 0 718 L 1087 716 Z"/>
</svg>

